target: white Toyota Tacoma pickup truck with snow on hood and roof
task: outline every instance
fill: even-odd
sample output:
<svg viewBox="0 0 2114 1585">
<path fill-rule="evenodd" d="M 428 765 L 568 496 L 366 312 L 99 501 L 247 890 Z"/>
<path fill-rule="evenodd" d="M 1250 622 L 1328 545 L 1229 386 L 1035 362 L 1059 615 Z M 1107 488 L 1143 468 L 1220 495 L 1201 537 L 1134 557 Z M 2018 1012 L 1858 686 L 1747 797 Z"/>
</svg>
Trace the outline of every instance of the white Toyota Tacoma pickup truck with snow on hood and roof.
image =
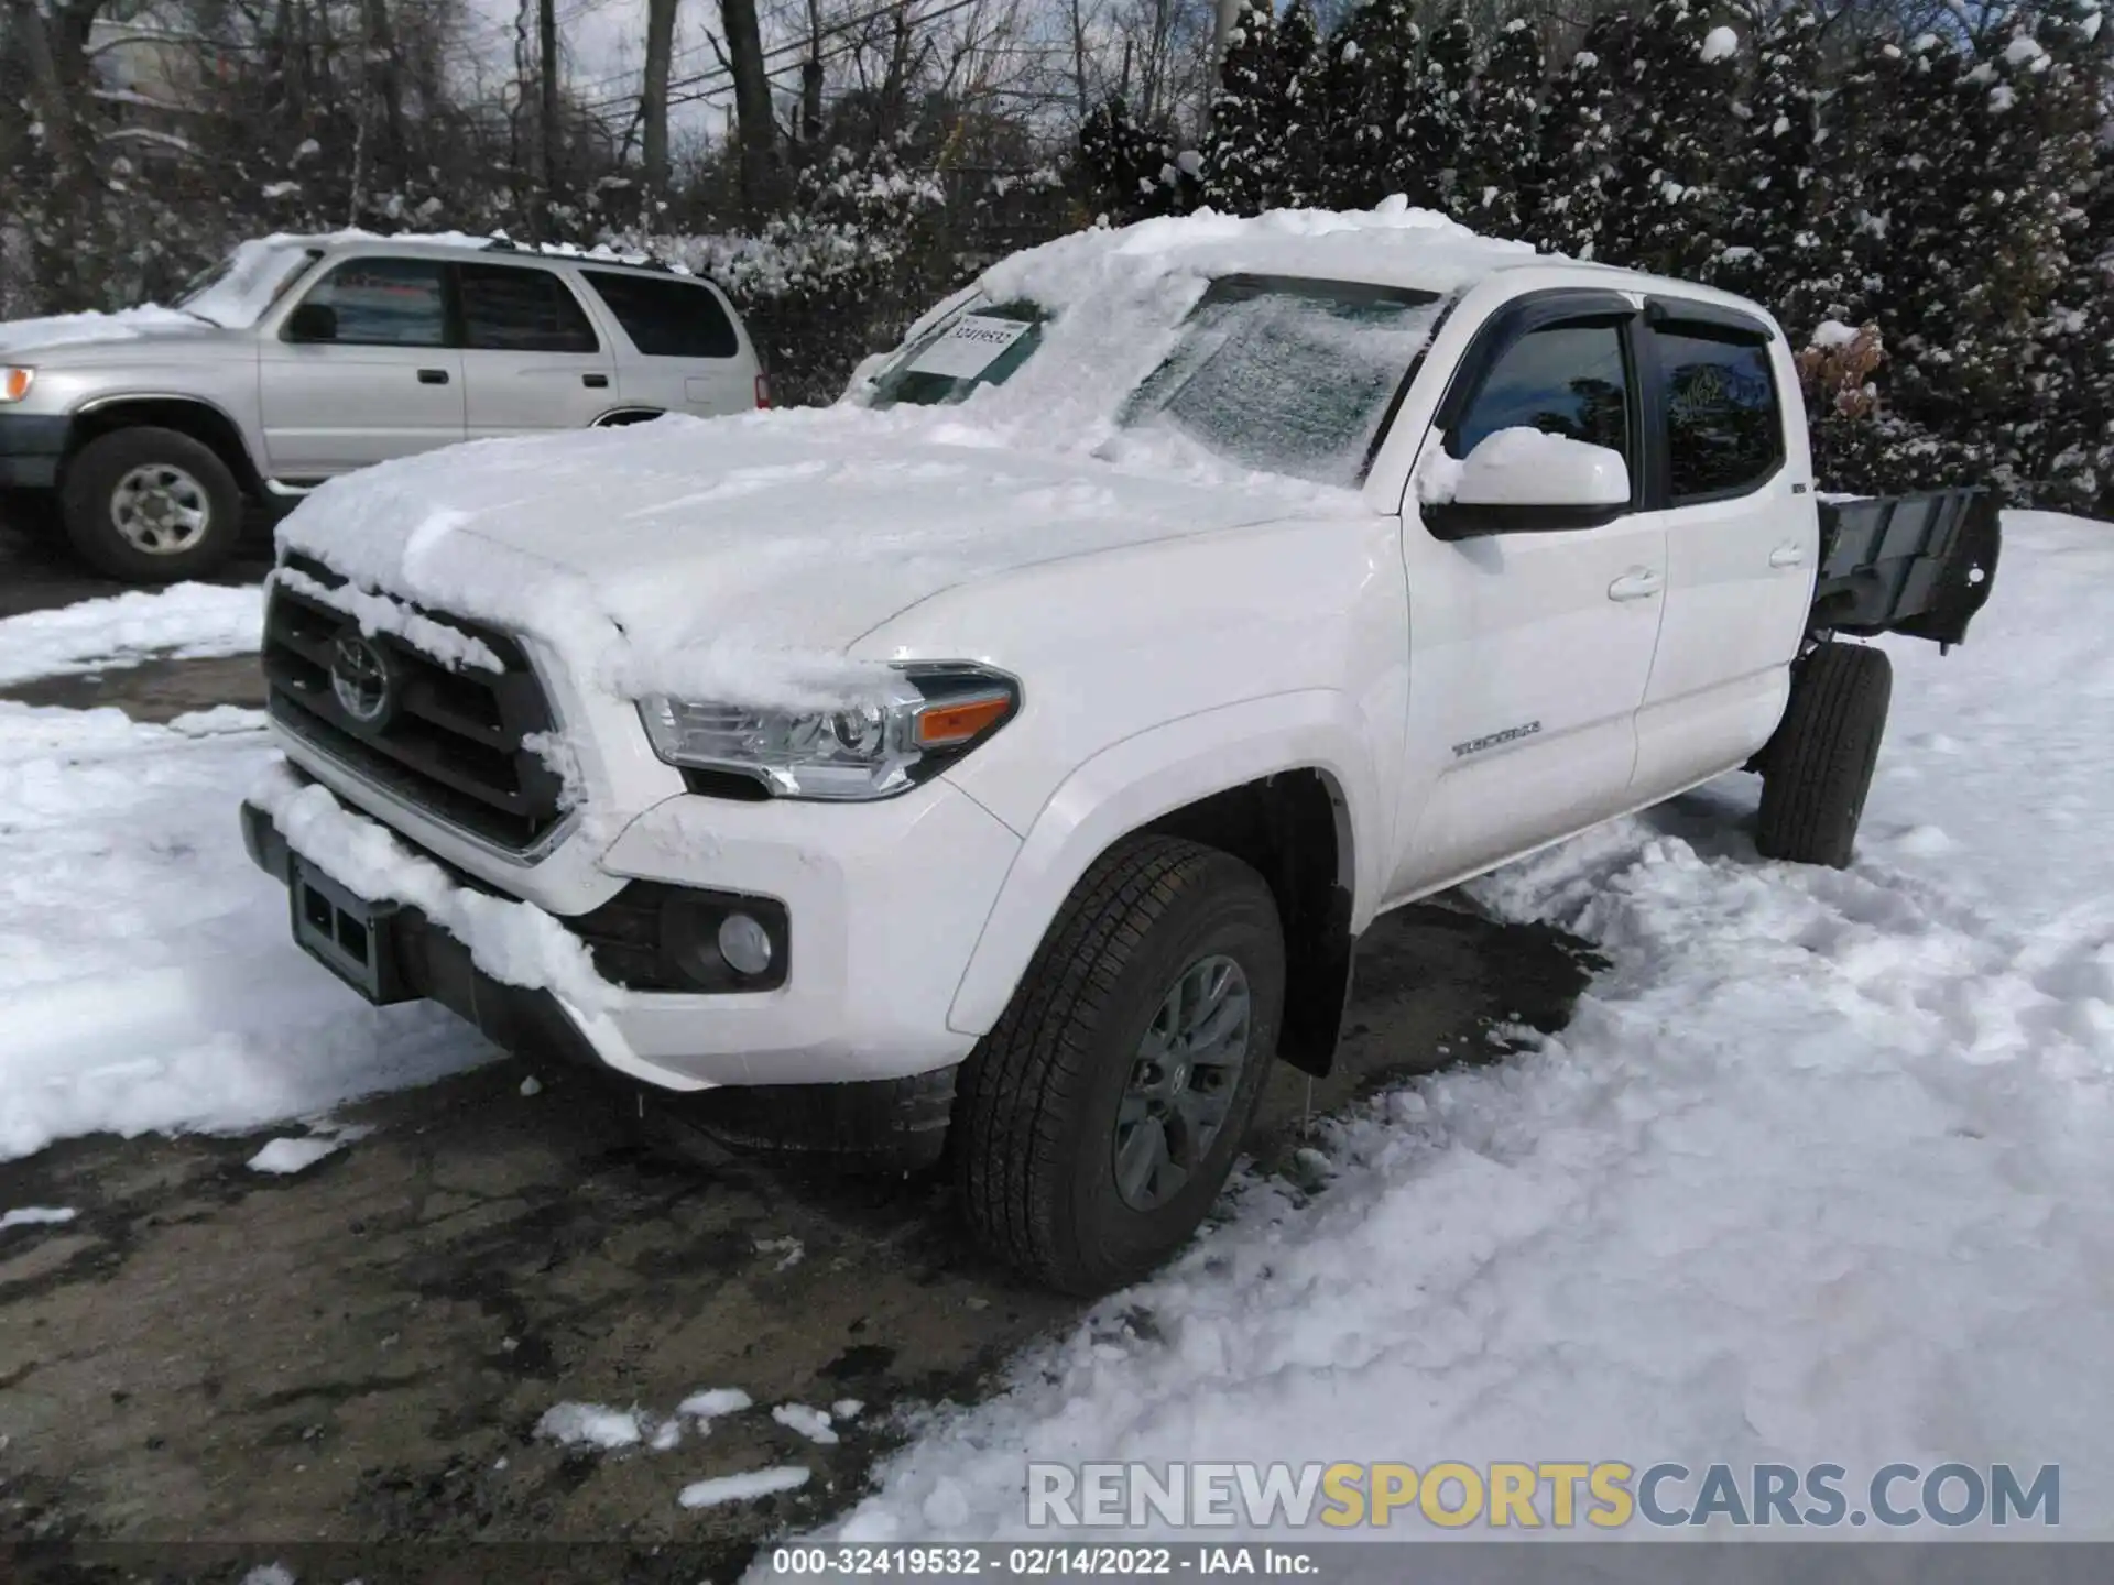
<svg viewBox="0 0 2114 1585">
<path fill-rule="evenodd" d="M 1850 860 L 1974 492 L 1822 507 L 1721 292 L 1399 205 L 1004 260 L 827 410 L 488 442 L 281 526 L 245 805 L 374 1002 L 951 1158 L 1093 1291 L 1220 1192 L 1359 932 L 1740 767 Z"/>
</svg>

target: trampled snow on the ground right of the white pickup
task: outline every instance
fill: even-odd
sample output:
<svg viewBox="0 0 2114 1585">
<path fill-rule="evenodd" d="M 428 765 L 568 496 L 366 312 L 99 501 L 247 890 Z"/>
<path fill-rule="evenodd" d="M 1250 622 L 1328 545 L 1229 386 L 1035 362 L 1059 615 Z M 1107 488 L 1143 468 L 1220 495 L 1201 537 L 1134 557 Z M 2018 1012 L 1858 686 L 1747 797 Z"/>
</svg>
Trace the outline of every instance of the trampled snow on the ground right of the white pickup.
<svg viewBox="0 0 2114 1585">
<path fill-rule="evenodd" d="M 1325 1192 L 1249 1181 L 831 1534 L 1027 1539 L 1027 1460 L 1554 1456 L 1835 1462 L 1856 1509 L 1892 1460 L 2059 1462 L 2103 1534 L 2114 528 L 2010 514 L 2004 552 L 1962 651 L 1888 642 L 1850 871 L 1759 860 L 1725 778 L 1480 881 L 1609 955 L 1571 1025 L 1330 1124 Z"/>
</svg>

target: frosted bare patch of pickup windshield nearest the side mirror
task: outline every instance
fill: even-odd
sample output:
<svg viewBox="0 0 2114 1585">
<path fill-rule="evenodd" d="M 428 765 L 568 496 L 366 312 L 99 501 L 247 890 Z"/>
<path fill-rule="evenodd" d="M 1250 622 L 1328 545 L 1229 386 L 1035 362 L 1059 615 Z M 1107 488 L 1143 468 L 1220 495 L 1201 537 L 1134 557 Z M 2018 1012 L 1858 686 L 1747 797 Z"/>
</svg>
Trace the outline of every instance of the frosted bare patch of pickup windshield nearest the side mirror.
<svg viewBox="0 0 2114 1585">
<path fill-rule="evenodd" d="M 1224 277 L 1120 423 L 1256 471 L 1357 486 L 1438 315 L 1431 292 Z"/>
</svg>

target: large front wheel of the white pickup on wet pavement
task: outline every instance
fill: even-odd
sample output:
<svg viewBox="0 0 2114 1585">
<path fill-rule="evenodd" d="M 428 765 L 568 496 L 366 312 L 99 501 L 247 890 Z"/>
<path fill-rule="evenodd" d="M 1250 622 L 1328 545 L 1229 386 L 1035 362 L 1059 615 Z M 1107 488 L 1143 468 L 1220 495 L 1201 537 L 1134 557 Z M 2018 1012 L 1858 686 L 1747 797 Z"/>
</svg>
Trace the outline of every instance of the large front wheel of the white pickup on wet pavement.
<svg viewBox="0 0 2114 1585">
<path fill-rule="evenodd" d="M 1245 981 L 1247 1027 L 1239 1067 L 1158 1042 L 1171 989 L 1201 976 L 1199 995 L 1226 1019 Z M 1194 1006 L 1194 1002 L 1190 1004 Z M 951 1150 L 962 1211 L 977 1241 L 1038 1283 L 1106 1293 L 1173 1255 L 1218 1198 L 1277 1050 L 1285 1006 L 1285 943 L 1277 902 L 1247 864 L 1173 837 L 1137 837 L 1104 854 L 1065 900 L 998 1025 L 977 1044 L 956 1084 Z M 1205 1021 L 1205 1029 L 1211 1029 Z M 1209 1044 L 1209 1042 L 1207 1042 Z M 1161 1046 L 1154 1044 L 1154 1050 Z M 1194 1057 L 1194 1061 L 1190 1061 Z M 1133 1097 L 1146 1076 L 1173 1082 L 1158 1103 Z M 1184 1088 L 1188 1086 L 1188 1088 Z M 1161 1107 L 1161 1139 L 1186 1177 L 1118 1183 L 1118 1139 L 1148 1122 L 1127 1110 Z M 1194 1107 L 1222 1107 L 1209 1143 Z M 1182 1145 L 1182 1148 L 1177 1148 Z M 1142 1152 L 1142 1154 L 1150 1154 Z M 1139 1202 L 1152 1200 L 1156 1202 Z"/>
</svg>

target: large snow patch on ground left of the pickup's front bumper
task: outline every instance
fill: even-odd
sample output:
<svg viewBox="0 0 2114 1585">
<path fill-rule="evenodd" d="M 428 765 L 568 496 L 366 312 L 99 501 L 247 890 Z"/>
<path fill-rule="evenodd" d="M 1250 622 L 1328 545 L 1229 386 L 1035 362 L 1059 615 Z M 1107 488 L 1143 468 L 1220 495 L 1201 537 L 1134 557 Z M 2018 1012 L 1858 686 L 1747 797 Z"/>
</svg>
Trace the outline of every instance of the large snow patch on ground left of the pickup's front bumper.
<svg viewBox="0 0 2114 1585">
<path fill-rule="evenodd" d="M 0 621 L 0 653 L 34 621 Z M 0 702 L 0 1158 L 99 1129 L 249 1129 L 490 1057 L 296 951 L 235 818 L 268 759 L 252 710 L 152 727 Z"/>
</svg>

